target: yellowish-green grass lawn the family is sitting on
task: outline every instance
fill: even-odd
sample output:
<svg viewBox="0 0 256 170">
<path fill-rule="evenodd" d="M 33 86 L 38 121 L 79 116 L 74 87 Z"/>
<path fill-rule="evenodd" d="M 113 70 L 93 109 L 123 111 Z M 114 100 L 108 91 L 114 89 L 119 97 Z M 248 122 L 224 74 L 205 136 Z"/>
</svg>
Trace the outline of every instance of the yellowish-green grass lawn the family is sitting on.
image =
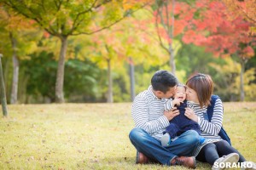
<svg viewBox="0 0 256 170">
<path fill-rule="evenodd" d="M 1 108 L 2 109 L 2 108 Z M 0 118 L 0 169 L 183 169 L 136 165 L 131 103 L 9 105 Z M 2 110 L 1 110 L 2 111 Z M 224 103 L 224 128 L 256 161 L 256 103 Z M 197 169 L 210 169 L 197 163 Z"/>
</svg>

